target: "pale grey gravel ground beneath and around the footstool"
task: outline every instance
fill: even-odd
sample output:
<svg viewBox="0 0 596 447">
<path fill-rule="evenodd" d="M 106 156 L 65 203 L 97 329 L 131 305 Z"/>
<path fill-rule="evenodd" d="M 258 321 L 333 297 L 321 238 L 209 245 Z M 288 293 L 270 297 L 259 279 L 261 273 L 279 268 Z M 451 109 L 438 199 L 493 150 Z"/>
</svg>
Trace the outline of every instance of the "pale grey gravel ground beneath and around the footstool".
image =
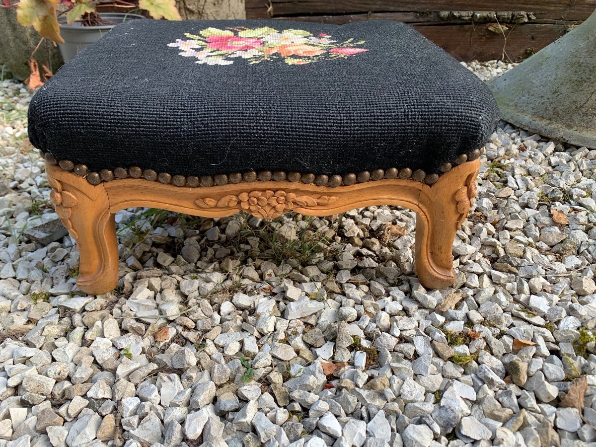
<svg viewBox="0 0 596 447">
<path fill-rule="evenodd" d="M 445 290 L 407 210 L 131 209 L 87 296 L 25 235 L 56 219 L 30 96 L 0 83 L 0 447 L 596 445 L 596 151 L 501 123 Z"/>
</svg>

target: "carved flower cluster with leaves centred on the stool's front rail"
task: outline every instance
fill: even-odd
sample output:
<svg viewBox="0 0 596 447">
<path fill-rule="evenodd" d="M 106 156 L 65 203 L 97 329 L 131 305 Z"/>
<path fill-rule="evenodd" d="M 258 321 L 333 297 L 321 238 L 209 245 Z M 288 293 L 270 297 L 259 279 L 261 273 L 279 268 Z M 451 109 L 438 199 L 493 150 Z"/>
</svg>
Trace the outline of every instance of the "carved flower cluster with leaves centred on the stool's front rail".
<svg viewBox="0 0 596 447">
<path fill-rule="evenodd" d="M 336 196 L 296 195 L 286 191 L 250 191 L 238 195 L 224 195 L 219 199 L 200 198 L 195 201 L 200 208 L 234 208 L 244 210 L 261 219 L 274 219 L 296 207 L 316 207 L 333 203 Z"/>
</svg>

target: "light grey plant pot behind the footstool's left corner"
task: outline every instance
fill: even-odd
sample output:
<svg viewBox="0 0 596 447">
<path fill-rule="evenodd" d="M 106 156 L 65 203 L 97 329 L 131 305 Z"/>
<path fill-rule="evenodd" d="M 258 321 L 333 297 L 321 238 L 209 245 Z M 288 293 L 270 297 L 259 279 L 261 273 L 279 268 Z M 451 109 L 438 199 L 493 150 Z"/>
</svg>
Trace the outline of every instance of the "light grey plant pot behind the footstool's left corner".
<svg viewBox="0 0 596 447">
<path fill-rule="evenodd" d="M 60 53 L 64 62 L 71 60 L 89 45 L 95 44 L 117 24 L 128 20 L 145 18 L 142 15 L 125 13 L 100 13 L 100 17 L 107 23 L 99 26 L 83 26 L 82 23 L 75 22 L 69 25 L 66 23 L 66 17 L 58 18 L 60 35 L 64 39 L 64 44 L 58 44 L 58 46 L 60 46 Z"/>
</svg>

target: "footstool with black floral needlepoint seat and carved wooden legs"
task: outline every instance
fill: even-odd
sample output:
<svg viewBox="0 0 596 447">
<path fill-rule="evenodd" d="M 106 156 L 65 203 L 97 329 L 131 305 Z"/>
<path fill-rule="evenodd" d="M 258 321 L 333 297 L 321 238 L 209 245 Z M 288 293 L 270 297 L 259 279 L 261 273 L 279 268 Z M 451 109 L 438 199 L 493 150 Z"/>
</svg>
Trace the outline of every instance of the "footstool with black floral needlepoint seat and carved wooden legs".
<svg viewBox="0 0 596 447">
<path fill-rule="evenodd" d="M 90 294 L 117 285 L 114 213 L 127 207 L 263 219 L 408 207 L 418 277 L 446 287 L 497 123 L 485 85 L 395 21 L 130 21 L 29 108 Z"/>
</svg>

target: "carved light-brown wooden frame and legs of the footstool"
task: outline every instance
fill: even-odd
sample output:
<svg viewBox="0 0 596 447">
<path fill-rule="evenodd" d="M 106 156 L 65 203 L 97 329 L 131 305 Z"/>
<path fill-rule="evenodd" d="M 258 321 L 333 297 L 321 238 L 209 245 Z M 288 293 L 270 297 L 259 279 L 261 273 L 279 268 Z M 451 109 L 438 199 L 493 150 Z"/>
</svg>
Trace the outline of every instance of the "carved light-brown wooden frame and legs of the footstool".
<svg viewBox="0 0 596 447">
<path fill-rule="evenodd" d="M 119 256 L 114 213 L 153 207 L 216 218 L 244 210 L 271 219 L 290 210 L 328 216 L 371 205 L 403 206 L 417 213 L 415 268 L 427 288 L 455 280 L 451 254 L 455 232 L 476 196 L 480 160 L 460 164 L 433 185 L 383 179 L 337 188 L 301 182 L 259 181 L 213 187 L 176 187 L 125 178 L 93 186 L 85 178 L 46 163 L 51 200 L 80 252 L 77 285 L 89 294 L 113 290 Z"/>
</svg>

